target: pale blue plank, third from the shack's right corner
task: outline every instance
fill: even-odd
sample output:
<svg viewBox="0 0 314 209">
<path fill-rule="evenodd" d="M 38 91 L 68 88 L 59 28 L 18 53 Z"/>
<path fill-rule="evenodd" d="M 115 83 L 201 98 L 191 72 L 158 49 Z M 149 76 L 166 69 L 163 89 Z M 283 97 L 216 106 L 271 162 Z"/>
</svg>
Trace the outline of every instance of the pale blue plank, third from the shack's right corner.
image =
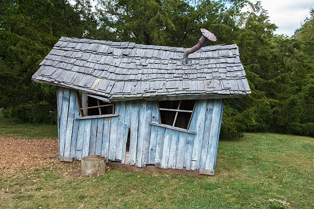
<svg viewBox="0 0 314 209">
<path fill-rule="evenodd" d="M 203 133 L 204 133 L 204 124 L 205 124 L 205 113 L 206 113 L 206 104 L 207 100 L 202 99 L 199 100 L 200 107 L 198 109 L 198 120 L 197 120 L 197 134 L 194 135 L 194 144 L 193 144 L 193 151 L 192 151 L 192 168 L 191 170 L 199 169 L 200 164 L 200 155 L 201 155 L 201 145 L 203 140 Z"/>
</svg>

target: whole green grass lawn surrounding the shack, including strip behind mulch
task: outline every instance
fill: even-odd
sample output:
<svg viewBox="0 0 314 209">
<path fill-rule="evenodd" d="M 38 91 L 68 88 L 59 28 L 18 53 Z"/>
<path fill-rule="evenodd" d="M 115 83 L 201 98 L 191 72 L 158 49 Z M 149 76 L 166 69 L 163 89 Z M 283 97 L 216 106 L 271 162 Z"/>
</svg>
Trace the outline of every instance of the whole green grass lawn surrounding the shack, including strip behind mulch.
<svg viewBox="0 0 314 209">
<path fill-rule="evenodd" d="M 0 134 L 57 136 L 54 126 L 3 118 Z M 118 168 L 97 178 L 65 175 L 75 163 L 0 176 L 0 208 L 314 208 L 313 138 L 247 133 L 220 141 L 217 159 L 213 177 Z"/>
</svg>

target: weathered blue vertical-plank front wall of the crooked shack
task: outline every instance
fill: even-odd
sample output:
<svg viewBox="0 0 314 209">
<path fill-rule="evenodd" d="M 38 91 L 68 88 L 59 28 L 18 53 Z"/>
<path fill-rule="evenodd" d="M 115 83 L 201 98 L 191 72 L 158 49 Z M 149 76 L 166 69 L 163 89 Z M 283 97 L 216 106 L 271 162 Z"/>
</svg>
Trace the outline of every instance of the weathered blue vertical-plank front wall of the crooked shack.
<svg viewBox="0 0 314 209">
<path fill-rule="evenodd" d="M 139 167 L 214 170 L 222 99 L 198 100 L 189 128 L 197 134 L 151 126 L 149 122 L 159 122 L 153 101 L 115 102 L 117 117 L 74 120 L 79 116 L 75 91 L 58 87 L 57 105 L 60 156 L 81 160 L 96 154 Z M 128 134 L 129 162 L 125 162 Z"/>
</svg>

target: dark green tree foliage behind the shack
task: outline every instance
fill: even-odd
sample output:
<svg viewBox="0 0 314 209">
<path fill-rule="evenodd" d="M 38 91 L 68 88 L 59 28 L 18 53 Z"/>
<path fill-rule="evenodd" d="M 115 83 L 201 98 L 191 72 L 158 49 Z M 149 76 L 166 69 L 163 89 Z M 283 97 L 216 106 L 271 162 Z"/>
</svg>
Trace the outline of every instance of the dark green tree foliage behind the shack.
<svg viewBox="0 0 314 209">
<path fill-rule="evenodd" d="M 32 115 L 15 110 L 45 104 L 53 112 L 55 89 L 33 86 L 30 78 L 61 36 L 191 47 L 206 28 L 217 36 L 215 44 L 239 46 L 252 92 L 225 100 L 221 137 L 264 131 L 314 136 L 313 9 L 287 37 L 274 35 L 267 11 L 249 0 L 97 0 L 95 9 L 92 3 L 0 3 L 0 107 L 7 115 Z"/>
</svg>

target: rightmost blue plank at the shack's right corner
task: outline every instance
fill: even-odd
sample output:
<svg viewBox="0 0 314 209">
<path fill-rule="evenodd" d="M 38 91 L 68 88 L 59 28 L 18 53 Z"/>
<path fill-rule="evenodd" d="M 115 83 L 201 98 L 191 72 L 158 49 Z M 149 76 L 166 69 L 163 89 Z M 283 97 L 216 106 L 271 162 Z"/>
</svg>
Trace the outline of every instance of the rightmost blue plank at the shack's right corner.
<svg viewBox="0 0 314 209">
<path fill-rule="evenodd" d="M 206 170 L 214 170 L 214 156 L 215 150 L 217 148 L 217 138 L 219 133 L 219 126 L 221 121 L 221 108 L 222 108 L 222 99 L 215 99 L 213 109 L 212 109 L 212 120 L 210 127 L 210 135 L 209 135 L 209 144 L 207 150 L 207 158 L 206 158 Z"/>
</svg>

